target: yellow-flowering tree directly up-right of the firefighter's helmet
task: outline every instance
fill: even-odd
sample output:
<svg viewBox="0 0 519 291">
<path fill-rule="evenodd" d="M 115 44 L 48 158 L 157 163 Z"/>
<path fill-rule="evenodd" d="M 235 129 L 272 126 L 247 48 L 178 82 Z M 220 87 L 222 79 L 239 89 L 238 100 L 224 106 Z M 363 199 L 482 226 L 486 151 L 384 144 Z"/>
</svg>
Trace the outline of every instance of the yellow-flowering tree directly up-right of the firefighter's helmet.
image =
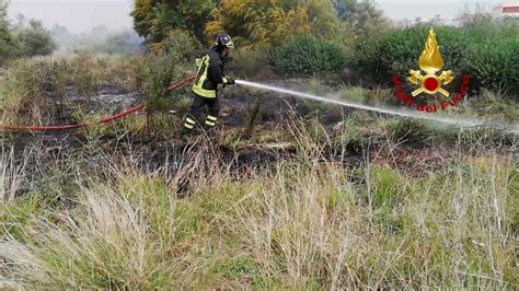
<svg viewBox="0 0 519 291">
<path fill-rule="evenodd" d="M 208 36 L 227 32 L 251 48 L 280 45 L 296 34 L 331 37 L 337 28 L 330 0 L 224 0 L 211 16 Z"/>
</svg>

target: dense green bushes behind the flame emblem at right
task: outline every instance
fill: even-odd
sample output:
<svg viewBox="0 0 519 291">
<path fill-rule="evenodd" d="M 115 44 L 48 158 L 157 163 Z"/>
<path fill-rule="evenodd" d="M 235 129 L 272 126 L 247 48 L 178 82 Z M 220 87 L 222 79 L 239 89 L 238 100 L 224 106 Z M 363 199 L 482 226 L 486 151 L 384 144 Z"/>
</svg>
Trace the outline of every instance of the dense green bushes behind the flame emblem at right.
<svg viewBox="0 0 519 291">
<path fill-rule="evenodd" d="M 519 21 L 486 20 L 462 27 L 435 27 L 445 69 L 458 77 L 469 73 L 472 86 L 515 90 L 519 84 Z M 488 24 L 489 23 L 489 24 Z M 348 60 L 351 68 L 370 75 L 377 83 L 418 69 L 429 25 L 392 30 L 379 37 L 362 37 Z"/>
</svg>

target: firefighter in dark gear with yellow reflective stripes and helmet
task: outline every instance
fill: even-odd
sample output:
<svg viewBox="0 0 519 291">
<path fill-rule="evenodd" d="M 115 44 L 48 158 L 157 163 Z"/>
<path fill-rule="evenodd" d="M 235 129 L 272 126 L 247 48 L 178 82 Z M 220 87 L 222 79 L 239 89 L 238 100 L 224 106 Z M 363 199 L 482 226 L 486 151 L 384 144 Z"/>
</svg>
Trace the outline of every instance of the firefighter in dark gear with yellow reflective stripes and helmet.
<svg viewBox="0 0 519 291">
<path fill-rule="evenodd" d="M 234 79 L 223 74 L 223 66 L 231 48 L 234 48 L 231 37 L 227 34 L 220 34 L 215 45 L 196 58 L 195 65 L 198 72 L 192 89 L 193 104 L 184 120 L 183 140 L 188 139 L 197 123 L 201 124 L 205 106 L 208 110 L 204 127 L 214 132 L 211 129 L 215 128 L 220 112 L 218 84 L 234 84 Z"/>
</svg>

